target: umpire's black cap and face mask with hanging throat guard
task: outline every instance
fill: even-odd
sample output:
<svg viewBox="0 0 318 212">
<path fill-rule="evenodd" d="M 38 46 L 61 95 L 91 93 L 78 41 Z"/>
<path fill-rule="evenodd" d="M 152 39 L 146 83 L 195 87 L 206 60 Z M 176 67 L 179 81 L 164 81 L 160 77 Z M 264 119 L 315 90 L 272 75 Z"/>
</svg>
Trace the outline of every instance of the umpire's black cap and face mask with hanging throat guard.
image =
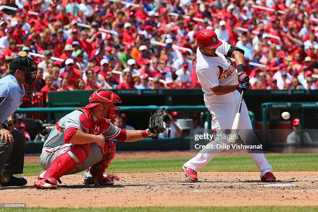
<svg viewBox="0 0 318 212">
<path fill-rule="evenodd" d="M 10 61 L 9 69 L 10 71 L 24 71 L 25 83 L 29 85 L 28 97 L 30 101 L 32 101 L 31 85 L 38 74 L 38 66 L 35 61 L 28 56 L 21 57 L 20 55 L 15 54 Z"/>
</svg>

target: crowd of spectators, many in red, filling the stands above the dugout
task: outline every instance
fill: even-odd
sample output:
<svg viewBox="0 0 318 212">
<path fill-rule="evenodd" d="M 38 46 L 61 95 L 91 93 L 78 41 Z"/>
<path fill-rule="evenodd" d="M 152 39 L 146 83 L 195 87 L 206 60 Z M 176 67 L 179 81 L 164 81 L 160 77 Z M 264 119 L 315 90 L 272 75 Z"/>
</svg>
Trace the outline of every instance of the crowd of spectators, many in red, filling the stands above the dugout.
<svg viewBox="0 0 318 212">
<path fill-rule="evenodd" d="M 28 55 L 39 67 L 32 91 L 201 88 L 194 70 L 204 28 L 245 51 L 252 89 L 318 88 L 317 0 L 1 3 L 0 77 L 14 54 Z"/>
</svg>

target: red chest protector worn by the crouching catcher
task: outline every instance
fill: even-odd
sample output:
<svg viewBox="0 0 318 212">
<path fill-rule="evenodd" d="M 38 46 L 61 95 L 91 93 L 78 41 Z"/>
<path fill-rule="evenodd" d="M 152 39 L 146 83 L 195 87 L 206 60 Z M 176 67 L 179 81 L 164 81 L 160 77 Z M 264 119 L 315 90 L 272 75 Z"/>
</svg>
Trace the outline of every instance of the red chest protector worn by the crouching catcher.
<svg viewBox="0 0 318 212">
<path fill-rule="evenodd" d="M 86 107 L 78 108 L 83 114 L 79 115 L 79 120 L 84 128 L 84 133 L 100 135 L 108 129 L 110 122 L 107 119 L 94 120 L 93 113 Z"/>
</svg>

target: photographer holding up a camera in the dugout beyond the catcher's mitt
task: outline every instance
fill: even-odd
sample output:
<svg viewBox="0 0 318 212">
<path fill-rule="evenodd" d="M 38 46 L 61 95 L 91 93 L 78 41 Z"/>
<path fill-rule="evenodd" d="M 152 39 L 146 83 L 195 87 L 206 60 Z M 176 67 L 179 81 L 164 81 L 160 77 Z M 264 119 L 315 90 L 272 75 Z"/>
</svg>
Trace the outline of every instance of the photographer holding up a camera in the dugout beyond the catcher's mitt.
<svg viewBox="0 0 318 212">
<path fill-rule="evenodd" d="M 180 138 L 182 134 L 182 128 L 177 122 L 178 112 L 172 112 L 172 115 L 167 111 L 163 112 L 163 127 L 166 128 L 166 132 L 158 134 L 158 138 Z"/>
</svg>

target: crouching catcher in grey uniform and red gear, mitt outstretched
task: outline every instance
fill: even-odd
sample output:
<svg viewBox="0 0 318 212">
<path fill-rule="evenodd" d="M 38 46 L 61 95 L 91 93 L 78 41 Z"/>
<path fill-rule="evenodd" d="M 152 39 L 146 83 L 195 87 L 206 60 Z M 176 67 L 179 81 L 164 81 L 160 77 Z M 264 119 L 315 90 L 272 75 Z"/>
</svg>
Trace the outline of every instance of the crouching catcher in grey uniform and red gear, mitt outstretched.
<svg viewBox="0 0 318 212">
<path fill-rule="evenodd" d="M 60 177 L 86 170 L 86 185 L 113 185 L 115 174 L 105 174 L 115 156 L 116 145 L 110 139 L 132 142 L 165 131 L 162 108 L 152 115 L 146 130 L 123 130 L 108 119 L 114 119 L 120 108 L 120 97 L 106 89 L 95 91 L 86 107 L 61 118 L 44 143 L 40 156 L 42 171 L 34 182 L 36 188 L 54 189 Z M 117 112 L 115 112 L 115 110 Z"/>
</svg>

